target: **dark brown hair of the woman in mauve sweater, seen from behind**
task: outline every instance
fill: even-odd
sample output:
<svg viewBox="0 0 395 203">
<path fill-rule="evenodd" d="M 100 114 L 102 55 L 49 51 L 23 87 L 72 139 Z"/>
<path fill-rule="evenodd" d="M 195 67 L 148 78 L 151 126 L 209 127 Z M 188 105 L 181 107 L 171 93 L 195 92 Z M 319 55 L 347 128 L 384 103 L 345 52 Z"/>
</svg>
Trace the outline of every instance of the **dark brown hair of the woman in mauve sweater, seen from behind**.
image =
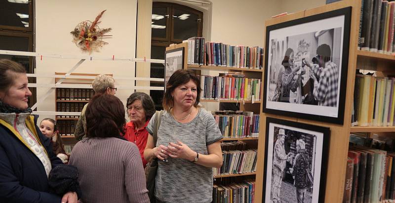
<svg viewBox="0 0 395 203">
<path fill-rule="evenodd" d="M 87 137 L 119 137 L 124 134 L 125 109 L 118 97 L 93 96 L 85 111 Z"/>
</svg>

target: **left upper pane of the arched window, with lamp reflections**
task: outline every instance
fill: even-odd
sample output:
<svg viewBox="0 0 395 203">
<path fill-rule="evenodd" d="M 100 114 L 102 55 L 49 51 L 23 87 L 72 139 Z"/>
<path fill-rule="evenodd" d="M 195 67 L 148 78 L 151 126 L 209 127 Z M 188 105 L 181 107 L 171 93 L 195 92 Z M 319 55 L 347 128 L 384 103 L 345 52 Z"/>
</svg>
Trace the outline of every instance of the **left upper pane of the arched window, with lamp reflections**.
<svg viewBox="0 0 395 203">
<path fill-rule="evenodd" d="M 153 38 L 166 38 L 166 20 L 167 14 L 166 7 L 153 7 L 152 8 L 152 37 Z"/>
</svg>

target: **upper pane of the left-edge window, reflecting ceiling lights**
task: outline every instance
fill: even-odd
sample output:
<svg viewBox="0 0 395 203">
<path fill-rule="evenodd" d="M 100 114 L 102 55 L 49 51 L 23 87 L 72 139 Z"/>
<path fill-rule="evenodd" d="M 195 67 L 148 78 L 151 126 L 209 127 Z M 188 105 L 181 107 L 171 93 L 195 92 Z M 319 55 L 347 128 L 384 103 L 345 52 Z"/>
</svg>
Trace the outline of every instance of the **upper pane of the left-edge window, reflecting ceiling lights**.
<svg viewBox="0 0 395 203">
<path fill-rule="evenodd" d="M 29 27 L 28 0 L 0 0 L 0 25 Z"/>
</svg>

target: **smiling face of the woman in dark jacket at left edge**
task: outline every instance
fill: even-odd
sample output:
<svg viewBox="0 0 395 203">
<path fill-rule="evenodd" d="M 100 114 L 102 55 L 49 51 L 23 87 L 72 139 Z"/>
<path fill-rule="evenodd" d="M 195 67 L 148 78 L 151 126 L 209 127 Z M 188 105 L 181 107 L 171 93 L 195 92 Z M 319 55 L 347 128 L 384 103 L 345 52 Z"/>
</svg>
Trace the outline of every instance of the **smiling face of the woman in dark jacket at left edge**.
<svg viewBox="0 0 395 203">
<path fill-rule="evenodd" d="M 13 84 L 8 91 L 0 92 L 2 102 L 11 105 L 17 109 L 25 110 L 28 108 L 28 97 L 32 92 L 28 88 L 28 77 L 25 73 L 12 73 L 10 77 L 14 77 Z"/>
</svg>

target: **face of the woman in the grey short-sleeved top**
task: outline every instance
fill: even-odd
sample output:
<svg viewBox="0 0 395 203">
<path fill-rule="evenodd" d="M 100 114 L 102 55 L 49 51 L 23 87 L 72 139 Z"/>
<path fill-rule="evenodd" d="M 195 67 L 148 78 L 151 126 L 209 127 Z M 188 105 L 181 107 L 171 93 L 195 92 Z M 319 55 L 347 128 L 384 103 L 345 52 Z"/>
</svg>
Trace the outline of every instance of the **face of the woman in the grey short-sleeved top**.
<svg viewBox="0 0 395 203">
<path fill-rule="evenodd" d="M 194 81 L 190 80 L 185 84 L 181 84 L 173 91 L 174 107 L 191 108 L 197 97 L 197 85 Z"/>
</svg>

